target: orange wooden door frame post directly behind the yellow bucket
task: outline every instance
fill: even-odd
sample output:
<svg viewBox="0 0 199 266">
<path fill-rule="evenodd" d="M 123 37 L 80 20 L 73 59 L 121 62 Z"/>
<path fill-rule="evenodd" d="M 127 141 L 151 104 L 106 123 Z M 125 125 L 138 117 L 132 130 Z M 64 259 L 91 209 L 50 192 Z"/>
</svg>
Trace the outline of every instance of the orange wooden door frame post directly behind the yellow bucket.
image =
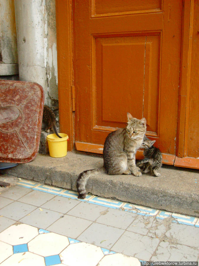
<svg viewBox="0 0 199 266">
<path fill-rule="evenodd" d="M 55 0 L 60 132 L 68 134 L 68 150 L 74 147 L 73 16 L 72 0 Z"/>
</svg>

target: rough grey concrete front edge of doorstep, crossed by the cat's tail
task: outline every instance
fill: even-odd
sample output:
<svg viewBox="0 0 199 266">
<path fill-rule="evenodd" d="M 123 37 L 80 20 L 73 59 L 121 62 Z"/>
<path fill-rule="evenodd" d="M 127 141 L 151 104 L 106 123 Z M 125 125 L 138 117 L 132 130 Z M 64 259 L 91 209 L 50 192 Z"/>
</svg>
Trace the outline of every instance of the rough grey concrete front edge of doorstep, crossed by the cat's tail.
<svg viewBox="0 0 199 266">
<path fill-rule="evenodd" d="M 78 172 L 59 167 L 19 164 L 13 168 L 1 170 L 1 173 L 29 179 L 42 184 L 77 191 Z M 132 184 L 124 176 L 96 174 L 91 176 L 86 186 L 87 193 L 150 207 L 152 209 L 198 217 L 198 194 L 181 193 L 170 189 L 147 187 Z"/>
</svg>

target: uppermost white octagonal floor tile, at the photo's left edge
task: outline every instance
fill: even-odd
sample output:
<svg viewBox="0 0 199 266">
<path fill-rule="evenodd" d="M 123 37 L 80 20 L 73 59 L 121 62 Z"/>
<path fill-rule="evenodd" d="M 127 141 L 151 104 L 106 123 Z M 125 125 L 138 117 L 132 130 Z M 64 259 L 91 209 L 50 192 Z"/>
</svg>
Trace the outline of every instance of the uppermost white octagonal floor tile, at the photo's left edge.
<svg viewBox="0 0 199 266">
<path fill-rule="evenodd" d="M 27 224 L 14 224 L 0 233 L 0 240 L 10 245 L 25 244 L 38 235 L 38 229 Z"/>
</svg>

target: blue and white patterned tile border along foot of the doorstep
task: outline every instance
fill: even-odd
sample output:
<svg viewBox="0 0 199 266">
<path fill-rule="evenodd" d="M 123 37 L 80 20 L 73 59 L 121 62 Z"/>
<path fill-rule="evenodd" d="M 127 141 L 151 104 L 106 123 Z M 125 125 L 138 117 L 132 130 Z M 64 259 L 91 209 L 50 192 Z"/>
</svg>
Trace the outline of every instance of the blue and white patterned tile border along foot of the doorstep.
<svg viewBox="0 0 199 266">
<path fill-rule="evenodd" d="M 192 216 L 171 213 L 171 212 L 167 212 L 164 210 L 156 210 L 156 209 L 152 209 L 152 208 L 148 208 L 148 207 L 144 207 L 140 205 L 131 204 L 128 202 L 109 200 L 106 198 L 101 198 L 101 197 L 93 196 L 90 194 L 87 194 L 86 198 L 82 200 L 82 199 L 78 199 L 78 193 L 75 191 L 72 191 L 69 189 L 60 189 L 60 188 L 56 188 L 56 187 L 49 186 L 49 185 L 43 185 L 35 181 L 20 180 L 17 183 L 17 185 L 27 187 L 33 190 L 38 190 L 38 191 L 54 194 L 60 197 L 67 197 L 67 198 L 71 198 L 74 200 L 79 200 L 79 201 L 84 201 L 84 202 L 87 201 L 95 205 L 100 205 L 100 206 L 114 208 L 114 209 L 121 209 L 126 212 L 136 213 L 138 215 L 154 216 L 157 219 L 161 219 L 161 220 L 168 218 L 169 216 L 172 216 L 175 219 L 172 221 L 174 223 L 180 223 L 180 224 L 199 227 L 199 218 L 192 217 Z"/>
</svg>

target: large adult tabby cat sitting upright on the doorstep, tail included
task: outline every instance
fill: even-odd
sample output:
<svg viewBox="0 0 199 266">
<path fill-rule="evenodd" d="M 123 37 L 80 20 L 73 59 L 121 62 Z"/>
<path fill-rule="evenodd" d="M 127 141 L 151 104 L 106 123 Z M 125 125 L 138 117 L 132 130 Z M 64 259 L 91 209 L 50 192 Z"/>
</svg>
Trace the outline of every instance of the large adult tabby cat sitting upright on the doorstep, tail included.
<svg viewBox="0 0 199 266">
<path fill-rule="evenodd" d="M 135 154 L 141 146 L 146 132 L 146 119 L 133 118 L 127 113 L 128 123 L 125 128 L 111 132 L 106 137 L 103 149 L 103 168 L 86 170 L 80 173 L 77 179 L 78 198 L 86 196 L 85 185 L 92 173 L 105 171 L 109 175 L 133 173 L 134 176 L 141 176 L 140 169 L 135 164 Z"/>
</svg>

